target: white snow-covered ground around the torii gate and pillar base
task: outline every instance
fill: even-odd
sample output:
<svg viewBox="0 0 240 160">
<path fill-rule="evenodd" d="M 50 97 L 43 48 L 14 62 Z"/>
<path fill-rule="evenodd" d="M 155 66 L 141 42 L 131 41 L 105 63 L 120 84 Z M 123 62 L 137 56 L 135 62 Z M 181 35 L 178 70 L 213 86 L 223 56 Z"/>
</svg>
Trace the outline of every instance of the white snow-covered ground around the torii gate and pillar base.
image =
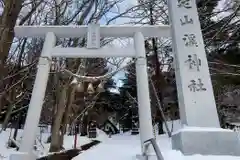
<svg viewBox="0 0 240 160">
<path fill-rule="evenodd" d="M 180 129 L 178 121 L 174 121 L 173 125 L 169 123 L 170 130 L 173 126 L 173 131 Z M 2 132 L 0 134 L 0 160 L 8 160 L 9 155 L 14 151 L 14 149 L 7 149 L 6 143 L 10 136 L 10 130 Z M 13 133 L 11 133 L 13 134 Z M 22 131 L 20 130 L 18 139 L 20 139 Z M 39 151 L 36 153 L 39 156 L 48 154 L 49 144 L 46 144 L 48 133 L 42 134 L 42 143 L 37 143 Z M 38 135 L 38 139 L 40 135 Z M 141 152 L 140 150 L 140 137 L 132 136 L 130 133 L 113 135 L 109 138 L 104 132 L 98 131 L 98 140 L 101 141 L 100 144 L 90 148 L 87 151 L 83 151 L 80 155 L 74 158 L 74 160 L 136 160 L 136 155 Z M 77 145 L 81 146 L 87 144 L 91 141 L 87 137 L 78 136 Z M 202 156 L 202 155 L 193 155 L 193 156 L 184 156 L 179 151 L 174 151 L 171 149 L 171 140 L 167 135 L 157 136 L 158 145 L 165 160 L 239 160 L 240 157 L 232 156 Z M 73 148 L 74 137 L 65 136 L 64 138 L 64 147 L 66 149 Z"/>
</svg>

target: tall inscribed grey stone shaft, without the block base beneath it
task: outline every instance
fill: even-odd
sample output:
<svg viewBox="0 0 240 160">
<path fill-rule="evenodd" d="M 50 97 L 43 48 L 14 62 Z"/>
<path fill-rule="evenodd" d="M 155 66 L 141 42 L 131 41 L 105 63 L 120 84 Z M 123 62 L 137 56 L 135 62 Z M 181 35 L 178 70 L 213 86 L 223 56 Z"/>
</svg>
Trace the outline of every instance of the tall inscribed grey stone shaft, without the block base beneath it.
<svg viewBox="0 0 240 160">
<path fill-rule="evenodd" d="M 196 0 L 168 0 L 168 4 L 181 122 L 219 127 Z"/>
</svg>

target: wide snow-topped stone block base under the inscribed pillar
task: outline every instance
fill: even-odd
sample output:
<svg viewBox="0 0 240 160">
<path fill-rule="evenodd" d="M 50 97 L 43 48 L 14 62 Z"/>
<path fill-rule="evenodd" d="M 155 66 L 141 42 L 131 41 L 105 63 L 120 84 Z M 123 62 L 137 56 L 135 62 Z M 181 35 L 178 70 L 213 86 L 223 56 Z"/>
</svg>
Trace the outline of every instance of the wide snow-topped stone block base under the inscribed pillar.
<svg viewBox="0 0 240 160">
<path fill-rule="evenodd" d="M 221 128 L 186 127 L 172 135 L 172 148 L 184 155 L 240 156 L 238 134 Z"/>
</svg>

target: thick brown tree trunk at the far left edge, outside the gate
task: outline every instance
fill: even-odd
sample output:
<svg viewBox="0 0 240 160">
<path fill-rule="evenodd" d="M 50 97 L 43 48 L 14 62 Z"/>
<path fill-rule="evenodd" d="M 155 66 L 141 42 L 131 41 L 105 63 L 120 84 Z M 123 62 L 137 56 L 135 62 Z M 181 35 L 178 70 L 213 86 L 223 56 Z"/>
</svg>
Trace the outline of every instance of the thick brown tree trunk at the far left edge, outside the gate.
<svg viewBox="0 0 240 160">
<path fill-rule="evenodd" d="M 0 93 L 4 90 L 3 78 L 6 75 L 4 68 L 14 38 L 14 26 L 22 8 L 22 0 L 7 0 L 3 14 L 0 17 Z M 0 112 L 2 110 L 2 98 L 0 96 Z"/>
</svg>

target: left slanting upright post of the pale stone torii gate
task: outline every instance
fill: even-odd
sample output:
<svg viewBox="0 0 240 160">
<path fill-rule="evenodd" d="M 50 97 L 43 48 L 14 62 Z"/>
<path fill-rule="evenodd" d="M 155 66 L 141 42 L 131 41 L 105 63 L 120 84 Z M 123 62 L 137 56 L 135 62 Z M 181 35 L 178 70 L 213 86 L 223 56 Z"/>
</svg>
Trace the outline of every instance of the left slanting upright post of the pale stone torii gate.
<svg viewBox="0 0 240 160">
<path fill-rule="evenodd" d="M 48 73 L 50 70 L 51 49 L 56 44 L 56 37 L 54 33 L 47 33 L 43 45 L 42 54 L 38 62 L 38 70 L 32 97 L 28 108 L 27 118 L 25 121 L 23 138 L 19 148 L 20 152 L 31 154 L 33 145 L 36 139 L 38 130 L 38 123 L 41 115 L 42 105 L 44 101 L 45 91 L 48 81 Z"/>
</svg>

